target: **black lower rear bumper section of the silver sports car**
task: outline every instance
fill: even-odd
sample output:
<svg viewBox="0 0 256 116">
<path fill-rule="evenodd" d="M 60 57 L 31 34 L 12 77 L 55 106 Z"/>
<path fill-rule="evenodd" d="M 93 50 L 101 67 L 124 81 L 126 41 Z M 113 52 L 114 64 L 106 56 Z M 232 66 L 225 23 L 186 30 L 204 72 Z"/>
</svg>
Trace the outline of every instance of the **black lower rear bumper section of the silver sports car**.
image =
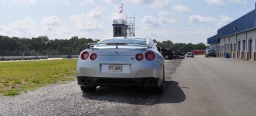
<svg viewBox="0 0 256 116">
<path fill-rule="evenodd" d="M 90 78 L 92 83 L 82 83 L 82 78 L 87 80 Z M 146 81 L 146 83 L 141 82 Z M 153 83 L 148 82 L 153 81 Z M 145 77 L 145 78 L 108 78 L 108 77 L 90 77 L 90 76 L 77 76 L 77 83 L 80 86 L 107 86 L 107 85 L 132 85 L 140 87 L 160 87 L 163 80 L 160 78 L 154 77 Z"/>
</svg>

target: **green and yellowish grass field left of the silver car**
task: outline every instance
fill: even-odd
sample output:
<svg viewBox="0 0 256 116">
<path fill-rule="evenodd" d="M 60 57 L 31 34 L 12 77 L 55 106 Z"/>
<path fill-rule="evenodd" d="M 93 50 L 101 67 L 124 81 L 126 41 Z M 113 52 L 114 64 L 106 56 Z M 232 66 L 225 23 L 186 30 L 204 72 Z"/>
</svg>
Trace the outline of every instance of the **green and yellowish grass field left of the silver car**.
<svg viewBox="0 0 256 116">
<path fill-rule="evenodd" d="M 74 80 L 77 59 L 0 62 L 0 94 L 18 95 L 49 83 Z"/>
</svg>

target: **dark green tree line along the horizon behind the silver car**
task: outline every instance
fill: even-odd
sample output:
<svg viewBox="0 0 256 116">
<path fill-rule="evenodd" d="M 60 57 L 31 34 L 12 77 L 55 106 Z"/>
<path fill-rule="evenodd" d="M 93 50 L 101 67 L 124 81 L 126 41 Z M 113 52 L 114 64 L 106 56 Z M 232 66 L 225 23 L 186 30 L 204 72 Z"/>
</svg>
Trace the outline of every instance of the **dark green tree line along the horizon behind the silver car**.
<svg viewBox="0 0 256 116">
<path fill-rule="evenodd" d="M 86 48 L 88 43 L 97 43 L 99 40 L 91 38 L 78 38 L 74 36 L 65 40 L 49 40 L 47 36 L 38 36 L 37 38 L 18 38 L 0 36 L 0 56 L 28 56 L 28 55 L 77 55 Z M 170 48 L 180 52 L 189 52 L 191 50 L 205 49 L 204 43 L 172 43 L 172 41 L 157 41 L 157 46 Z"/>
</svg>

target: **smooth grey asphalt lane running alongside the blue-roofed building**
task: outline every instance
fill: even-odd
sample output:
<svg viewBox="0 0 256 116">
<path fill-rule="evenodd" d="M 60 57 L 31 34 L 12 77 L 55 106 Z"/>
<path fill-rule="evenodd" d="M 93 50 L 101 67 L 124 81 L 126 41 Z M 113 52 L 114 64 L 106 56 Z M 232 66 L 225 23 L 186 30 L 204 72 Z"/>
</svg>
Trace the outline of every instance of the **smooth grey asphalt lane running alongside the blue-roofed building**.
<svg viewBox="0 0 256 116">
<path fill-rule="evenodd" d="M 256 115 L 256 62 L 195 56 L 173 82 L 179 87 L 168 87 L 154 115 Z"/>
</svg>

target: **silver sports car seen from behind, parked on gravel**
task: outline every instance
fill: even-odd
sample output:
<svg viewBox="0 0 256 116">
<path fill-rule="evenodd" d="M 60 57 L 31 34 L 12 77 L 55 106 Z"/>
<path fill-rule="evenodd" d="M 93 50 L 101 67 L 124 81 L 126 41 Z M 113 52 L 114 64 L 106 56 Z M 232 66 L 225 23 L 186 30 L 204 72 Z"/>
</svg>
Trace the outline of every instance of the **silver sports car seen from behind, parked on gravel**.
<svg viewBox="0 0 256 116">
<path fill-rule="evenodd" d="M 83 92 L 105 85 L 138 85 L 164 92 L 164 57 L 150 38 L 117 37 L 88 44 L 76 71 Z"/>
</svg>

